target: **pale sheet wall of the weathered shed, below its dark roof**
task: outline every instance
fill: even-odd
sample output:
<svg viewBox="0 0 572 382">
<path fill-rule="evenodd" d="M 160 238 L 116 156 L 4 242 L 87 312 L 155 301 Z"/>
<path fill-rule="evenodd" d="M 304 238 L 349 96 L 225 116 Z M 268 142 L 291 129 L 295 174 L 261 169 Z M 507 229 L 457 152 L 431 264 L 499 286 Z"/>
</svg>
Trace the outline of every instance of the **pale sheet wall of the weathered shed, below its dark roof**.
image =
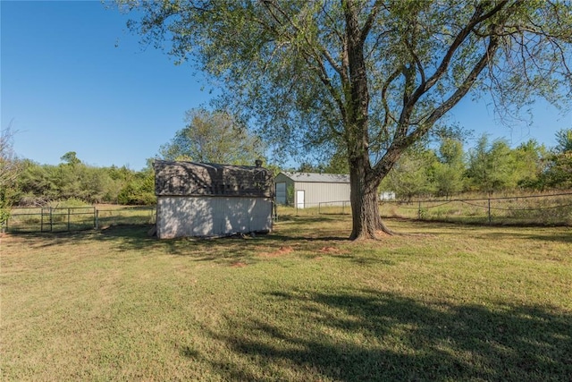
<svg viewBox="0 0 572 382">
<path fill-rule="evenodd" d="M 272 199 L 159 196 L 156 226 L 161 239 L 270 232 Z"/>
</svg>

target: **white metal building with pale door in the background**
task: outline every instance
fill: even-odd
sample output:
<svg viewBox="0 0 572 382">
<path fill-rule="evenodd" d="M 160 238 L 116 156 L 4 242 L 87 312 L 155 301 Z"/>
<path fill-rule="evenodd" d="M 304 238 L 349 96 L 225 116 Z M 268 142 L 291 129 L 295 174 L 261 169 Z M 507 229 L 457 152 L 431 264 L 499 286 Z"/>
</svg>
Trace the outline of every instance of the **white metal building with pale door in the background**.
<svg viewBox="0 0 572 382">
<path fill-rule="evenodd" d="M 349 201 L 349 175 L 282 172 L 274 178 L 276 203 L 297 208 Z"/>
</svg>

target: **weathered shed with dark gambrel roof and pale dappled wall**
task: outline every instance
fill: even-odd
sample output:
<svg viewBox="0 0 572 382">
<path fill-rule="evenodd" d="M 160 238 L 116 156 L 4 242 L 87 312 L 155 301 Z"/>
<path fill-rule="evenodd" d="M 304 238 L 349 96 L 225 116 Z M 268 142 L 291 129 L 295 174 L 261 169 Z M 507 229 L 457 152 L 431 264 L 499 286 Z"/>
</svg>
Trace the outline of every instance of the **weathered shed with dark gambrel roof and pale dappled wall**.
<svg viewBox="0 0 572 382">
<path fill-rule="evenodd" d="M 156 160 L 154 167 L 157 237 L 272 230 L 273 175 L 269 170 L 163 160 Z"/>
</svg>

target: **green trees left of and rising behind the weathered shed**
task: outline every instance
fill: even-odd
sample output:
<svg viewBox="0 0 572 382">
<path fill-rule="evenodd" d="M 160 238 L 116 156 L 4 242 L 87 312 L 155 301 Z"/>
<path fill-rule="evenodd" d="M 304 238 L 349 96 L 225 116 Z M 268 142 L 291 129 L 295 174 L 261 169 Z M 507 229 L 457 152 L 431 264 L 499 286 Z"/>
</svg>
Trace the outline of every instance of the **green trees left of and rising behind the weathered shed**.
<svg viewBox="0 0 572 382">
<path fill-rule="evenodd" d="M 160 147 L 157 158 L 250 166 L 265 158 L 262 140 L 227 112 L 191 109 L 185 121 L 187 125 Z M 154 158 L 147 159 L 143 170 L 134 171 L 126 166 L 88 166 L 75 151 L 69 151 L 58 165 L 40 165 L 16 156 L 10 128 L 0 138 L 0 222 L 11 206 L 40 207 L 59 200 L 156 203 Z M 277 172 L 276 166 L 271 167 Z"/>
</svg>

